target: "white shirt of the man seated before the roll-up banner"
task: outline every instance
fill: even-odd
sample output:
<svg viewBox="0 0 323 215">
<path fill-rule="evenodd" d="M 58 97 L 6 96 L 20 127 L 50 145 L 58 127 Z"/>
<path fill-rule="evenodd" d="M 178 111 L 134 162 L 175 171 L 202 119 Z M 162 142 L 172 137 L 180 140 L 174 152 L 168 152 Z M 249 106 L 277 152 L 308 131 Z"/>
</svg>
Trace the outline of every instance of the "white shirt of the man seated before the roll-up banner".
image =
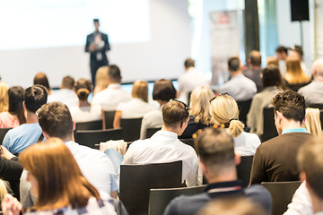
<svg viewBox="0 0 323 215">
<path fill-rule="evenodd" d="M 256 94 L 257 86 L 255 82 L 240 73 L 232 76 L 229 82 L 223 84 L 219 93 L 224 92 L 228 92 L 237 101 L 249 100 Z"/>
</svg>

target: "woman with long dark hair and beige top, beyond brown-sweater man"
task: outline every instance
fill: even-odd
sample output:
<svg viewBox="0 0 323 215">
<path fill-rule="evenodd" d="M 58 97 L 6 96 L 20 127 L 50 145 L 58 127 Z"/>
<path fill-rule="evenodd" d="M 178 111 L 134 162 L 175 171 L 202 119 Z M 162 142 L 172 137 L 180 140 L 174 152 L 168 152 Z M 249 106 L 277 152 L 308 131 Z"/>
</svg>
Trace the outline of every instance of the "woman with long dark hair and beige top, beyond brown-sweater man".
<svg viewBox="0 0 323 215">
<path fill-rule="evenodd" d="M 267 65 L 262 74 L 264 90 L 257 93 L 252 99 L 247 116 L 250 133 L 256 133 L 259 137 L 264 133 L 264 107 L 270 105 L 270 101 L 278 92 L 285 90 L 282 75 L 277 66 Z"/>
</svg>

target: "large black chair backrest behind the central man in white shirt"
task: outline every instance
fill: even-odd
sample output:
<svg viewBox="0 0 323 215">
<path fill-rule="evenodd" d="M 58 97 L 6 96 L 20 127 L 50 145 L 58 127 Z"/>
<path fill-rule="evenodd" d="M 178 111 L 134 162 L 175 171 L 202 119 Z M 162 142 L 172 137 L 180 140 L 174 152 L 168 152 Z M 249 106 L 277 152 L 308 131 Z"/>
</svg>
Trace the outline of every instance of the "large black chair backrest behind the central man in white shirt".
<svg viewBox="0 0 323 215">
<path fill-rule="evenodd" d="M 182 161 L 146 165 L 121 165 L 120 200 L 131 215 L 148 214 L 152 188 L 181 185 Z"/>
</svg>

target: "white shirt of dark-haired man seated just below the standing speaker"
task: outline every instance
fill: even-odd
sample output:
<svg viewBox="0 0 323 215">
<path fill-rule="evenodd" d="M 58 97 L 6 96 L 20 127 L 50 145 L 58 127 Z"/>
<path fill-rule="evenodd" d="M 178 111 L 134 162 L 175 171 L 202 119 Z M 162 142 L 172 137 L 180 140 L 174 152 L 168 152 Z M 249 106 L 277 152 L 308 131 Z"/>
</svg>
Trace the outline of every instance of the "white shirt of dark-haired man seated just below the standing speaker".
<svg viewBox="0 0 323 215">
<path fill-rule="evenodd" d="M 92 99 L 92 105 L 100 105 L 104 111 L 116 110 L 120 102 L 131 99 L 129 93 L 121 90 L 118 83 L 110 83 L 108 88 L 98 92 Z"/>
</svg>

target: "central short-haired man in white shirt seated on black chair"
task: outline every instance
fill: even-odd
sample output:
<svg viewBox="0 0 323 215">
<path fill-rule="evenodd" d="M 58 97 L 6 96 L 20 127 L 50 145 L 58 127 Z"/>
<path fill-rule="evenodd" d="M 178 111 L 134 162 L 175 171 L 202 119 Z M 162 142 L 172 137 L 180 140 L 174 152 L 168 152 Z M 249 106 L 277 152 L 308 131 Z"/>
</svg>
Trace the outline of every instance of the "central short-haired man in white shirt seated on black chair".
<svg viewBox="0 0 323 215">
<path fill-rule="evenodd" d="M 162 107 L 162 131 L 154 133 L 150 139 L 130 144 L 123 164 L 167 163 L 182 160 L 182 182 L 188 186 L 197 183 L 198 160 L 196 151 L 183 142 L 181 135 L 188 126 L 188 107 L 181 101 L 172 100 Z"/>
</svg>

